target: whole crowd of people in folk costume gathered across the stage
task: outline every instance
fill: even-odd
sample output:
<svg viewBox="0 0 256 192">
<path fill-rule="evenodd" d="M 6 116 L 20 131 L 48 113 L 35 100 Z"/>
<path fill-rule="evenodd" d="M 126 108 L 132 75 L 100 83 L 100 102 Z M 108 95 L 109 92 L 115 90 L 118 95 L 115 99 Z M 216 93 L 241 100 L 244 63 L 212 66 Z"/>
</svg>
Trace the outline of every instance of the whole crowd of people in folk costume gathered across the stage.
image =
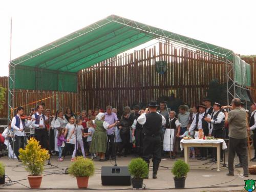
<svg viewBox="0 0 256 192">
<path fill-rule="evenodd" d="M 170 106 L 172 108 L 172 106 Z M 228 110 L 226 110 L 228 109 Z M 230 111 L 229 111 L 230 110 Z M 227 112 L 229 111 L 229 113 Z M 51 114 L 44 104 L 32 109 L 29 117 L 24 116 L 24 108 L 17 108 L 8 128 L 2 136 L 8 146 L 9 157 L 18 158 L 18 149 L 24 148 L 26 142 L 26 127 L 28 137 L 35 137 L 39 144 L 49 150 L 51 155 L 58 155 L 63 161 L 66 155 L 71 155 L 71 161 L 76 154 L 99 161 L 115 160 L 129 154 L 143 157 L 149 164 L 153 156 L 153 178 L 157 178 L 157 170 L 162 156 L 176 158 L 180 151 L 180 140 L 184 136 L 193 137 L 195 131 L 203 130 L 204 136 L 229 138 L 229 173 L 233 175 L 234 155 L 239 157 L 244 176 L 248 176 L 247 161 L 247 131 L 256 132 L 256 104 L 251 105 L 249 127 L 246 128 L 246 112 L 240 99 L 233 99 L 232 106 L 221 106 L 205 99 L 203 104 L 179 106 L 179 113 L 167 108 L 165 102 L 151 101 L 147 108 L 141 109 L 135 105 L 131 110 L 126 106 L 118 113 L 116 108 L 106 106 L 94 110 L 82 111 L 75 115 L 71 108 L 65 112 L 57 111 Z M 256 133 L 253 144 L 256 146 Z M 14 142 L 14 153 L 10 143 Z M 216 161 L 215 148 L 190 148 L 190 158 L 205 161 Z M 223 161 L 223 150 L 221 150 Z M 256 150 L 252 161 L 256 161 Z M 232 166 L 231 166 L 232 165 Z"/>
</svg>

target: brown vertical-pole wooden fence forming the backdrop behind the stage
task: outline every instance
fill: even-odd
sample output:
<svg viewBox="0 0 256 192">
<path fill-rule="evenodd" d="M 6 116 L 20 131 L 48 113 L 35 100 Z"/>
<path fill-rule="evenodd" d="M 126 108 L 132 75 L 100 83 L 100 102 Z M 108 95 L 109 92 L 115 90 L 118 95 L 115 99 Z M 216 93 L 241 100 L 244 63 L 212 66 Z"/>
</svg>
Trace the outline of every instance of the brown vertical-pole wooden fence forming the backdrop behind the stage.
<svg viewBox="0 0 256 192">
<path fill-rule="evenodd" d="M 242 59 L 251 65 L 252 96 L 256 100 L 256 57 Z M 53 113 L 67 106 L 78 113 L 81 109 L 104 108 L 109 104 L 122 111 L 126 105 L 147 103 L 170 95 L 187 104 L 198 104 L 207 96 L 211 80 L 226 83 L 223 60 L 206 52 L 159 42 L 152 48 L 123 53 L 81 70 L 77 93 L 16 90 L 15 107 L 23 105 L 29 112 L 42 101 Z M 167 62 L 164 74 L 156 72 L 156 61 Z M 8 89 L 8 77 L 0 77 L 0 84 Z M 7 117 L 7 98 L 6 91 L 6 103 L 0 110 L 0 117 Z"/>
</svg>

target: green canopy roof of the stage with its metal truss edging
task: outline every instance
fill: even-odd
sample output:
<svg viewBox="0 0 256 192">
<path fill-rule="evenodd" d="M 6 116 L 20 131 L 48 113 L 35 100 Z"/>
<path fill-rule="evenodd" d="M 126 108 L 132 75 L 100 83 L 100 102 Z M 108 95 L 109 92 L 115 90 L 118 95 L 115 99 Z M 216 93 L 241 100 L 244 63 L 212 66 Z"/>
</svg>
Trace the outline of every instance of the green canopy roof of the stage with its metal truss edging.
<svg viewBox="0 0 256 192">
<path fill-rule="evenodd" d="M 234 66 L 230 74 L 236 68 L 243 69 L 242 76 L 239 72 L 234 73 L 234 79 L 232 79 L 234 93 L 236 93 L 236 83 L 242 87 L 250 85 L 250 78 L 248 78 L 250 68 L 247 63 L 242 63 L 241 69 L 241 59 L 239 57 L 234 59 L 233 51 L 111 15 L 11 60 L 9 63 L 9 112 L 14 108 L 13 96 L 16 89 L 77 92 L 77 73 L 80 70 L 153 39 L 168 40 L 223 57 L 227 65 Z M 235 60 L 236 65 L 233 65 Z M 244 78 L 247 80 L 245 81 Z M 229 90 L 231 88 L 228 88 Z"/>
</svg>

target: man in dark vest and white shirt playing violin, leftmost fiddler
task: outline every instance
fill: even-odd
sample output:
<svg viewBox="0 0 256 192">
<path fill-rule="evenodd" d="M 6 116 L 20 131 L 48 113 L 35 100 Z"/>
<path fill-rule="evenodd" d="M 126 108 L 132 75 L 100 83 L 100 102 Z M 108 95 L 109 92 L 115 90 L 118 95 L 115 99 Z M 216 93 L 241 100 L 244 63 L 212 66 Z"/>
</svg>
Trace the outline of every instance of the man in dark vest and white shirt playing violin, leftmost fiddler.
<svg viewBox="0 0 256 192">
<path fill-rule="evenodd" d="M 15 137 L 15 155 L 18 158 L 18 161 L 20 161 L 19 159 L 19 148 L 23 148 L 25 147 L 25 140 L 24 140 L 24 136 L 25 136 L 25 132 L 24 132 L 24 127 L 28 127 L 32 124 L 33 119 L 28 120 L 27 118 L 22 118 L 22 116 L 24 115 L 24 108 L 22 106 L 19 106 L 17 108 L 17 114 L 12 118 L 12 123 L 11 123 L 11 127 L 14 130 L 14 137 Z"/>
</svg>

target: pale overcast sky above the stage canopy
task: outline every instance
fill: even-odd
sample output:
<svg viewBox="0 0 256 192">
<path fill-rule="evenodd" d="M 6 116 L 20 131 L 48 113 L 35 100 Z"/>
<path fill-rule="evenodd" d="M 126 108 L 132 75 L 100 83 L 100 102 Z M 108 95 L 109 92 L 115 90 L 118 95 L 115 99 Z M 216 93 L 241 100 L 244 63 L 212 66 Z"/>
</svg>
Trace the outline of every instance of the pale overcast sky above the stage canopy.
<svg viewBox="0 0 256 192">
<path fill-rule="evenodd" d="M 0 1 L 0 76 L 14 59 L 111 14 L 233 50 L 256 54 L 256 1 Z"/>
</svg>

